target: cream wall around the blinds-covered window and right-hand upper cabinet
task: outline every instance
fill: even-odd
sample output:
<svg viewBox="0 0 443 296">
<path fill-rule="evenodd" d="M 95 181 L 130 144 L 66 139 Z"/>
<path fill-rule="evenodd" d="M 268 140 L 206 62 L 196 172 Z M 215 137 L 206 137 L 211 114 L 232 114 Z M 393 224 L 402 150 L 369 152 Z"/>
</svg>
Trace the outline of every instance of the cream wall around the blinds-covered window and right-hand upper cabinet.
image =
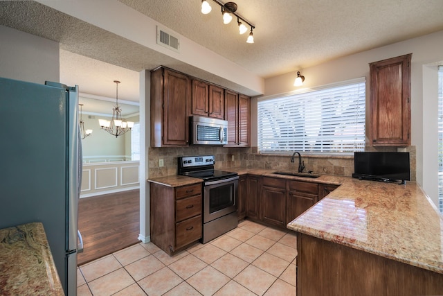
<svg viewBox="0 0 443 296">
<path fill-rule="evenodd" d="M 413 53 L 412 71 L 411 71 L 411 110 L 412 110 L 412 145 L 417 148 L 417 182 L 424 187 L 424 191 L 428 193 L 435 204 L 438 204 L 437 184 L 435 184 L 435 165 L 437 155 L 435 148 L 437 125 L 424 123 L 428 114 L 434 114 L 436 109 L 436 98 L 428 96 L 424 92 L 424 85 L 429 85 L 424 77 L 429 75 L 428 71 L 424 71 L 428 64 L 436 64 L 443 61 L 443 31 L 424 35 L 421 37 L 398 42 L 388 46 L 379 47 L 370 51 L 356 53 L 344 58 L 339 58 L 319 64 L 307 69 L 299 69 L 300 73 L 305 76 L 305 82 L 302 87 L 316 87 L 319 85 L 327 85 L 332 82 L 338 82 L 358 77 L 366 77 L 367 86 L 369 85 L 369 63 L 394 58 L 399 55 Z M 275 76 L 265 80 L 264 96 L 273 94 L 282 94 L 296 90 L 293 87 L 293 80 L 296 78 L 296 72 L 286 73 L 281 76 Z M 436 83 L 435 83 L 436 85 Z M 435 86 L 436 87 L 436 86 Z M 436 92 L 436 90 L 435 90 Z M 425 94 L 425 96 L 424 96 Z M 369 89 L 366 88 L 367 103 L 369 99 Z M 256 98 L 253 102 L 255 105 Z M 256 108 L 256 107 L 255 107 Z M 367 108 L 368 112 L 368 108 Z M 430 113 L 431 112 L 431 113 Z M 257 116 L 256 110 L 253 110 L 252 118 L 252 134 L 257 134 Z M 435 122 L 435 120 L 433 120 Z M 368 126 L 368 122 L 367 122 Z M 433 138 L 435 137 L 435 138 Z M 433 139 L 431 143 L 431 139 Z M 257 146 L 257 139 L 253 137 L 253 146 Z M 430 149 L 432 147 L 432 150 Z M 429 150 L 428 150 L 429 149 Z M 426 155 L 426 156 L 424 156 Z M 431 168 L 431 170 L 428 170 Z M 428 175 L 432 175 L 428 179 Z M 433 182 L 429 182 L 433 180 Z"/>
</svg>

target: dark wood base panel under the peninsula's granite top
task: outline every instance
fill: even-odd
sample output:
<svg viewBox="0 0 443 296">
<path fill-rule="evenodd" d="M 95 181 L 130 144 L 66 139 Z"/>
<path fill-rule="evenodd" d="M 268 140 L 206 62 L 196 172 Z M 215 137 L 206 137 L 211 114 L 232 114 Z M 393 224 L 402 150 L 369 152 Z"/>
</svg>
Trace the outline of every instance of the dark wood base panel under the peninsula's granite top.
<svg viewBox="0 0 443 296">
<path fill-rule="evenodd" d="M 443 275 L 297 233 L 297 295 L 443 295 Z"/>
</svg>

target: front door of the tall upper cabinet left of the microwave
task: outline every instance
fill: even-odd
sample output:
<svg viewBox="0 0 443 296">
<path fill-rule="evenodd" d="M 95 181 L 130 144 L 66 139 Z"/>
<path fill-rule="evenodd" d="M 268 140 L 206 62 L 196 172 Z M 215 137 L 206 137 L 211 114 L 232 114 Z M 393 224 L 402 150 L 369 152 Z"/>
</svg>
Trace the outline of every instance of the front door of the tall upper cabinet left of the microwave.
<svg viewBox="0 0 443 296">
<path fill-rule="evenodd" d="M 163 145 L 188 146 L 188 76 L 165 69 L 163 92 Z"/>
</svg>

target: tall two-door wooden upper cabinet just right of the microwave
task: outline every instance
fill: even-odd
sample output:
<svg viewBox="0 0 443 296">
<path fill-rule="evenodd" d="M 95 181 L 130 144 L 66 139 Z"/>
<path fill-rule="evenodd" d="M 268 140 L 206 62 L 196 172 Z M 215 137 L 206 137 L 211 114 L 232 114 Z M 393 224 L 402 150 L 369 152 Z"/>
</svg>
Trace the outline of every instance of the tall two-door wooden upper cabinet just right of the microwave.
<svg viewBox="0 0 443 296">
<path fill-rule="evenodd" d="M 228 144 L 250 146 L 251 98 L 226 89 L 224 94 L 225 120 L 228 121 Z"/>
</svg>

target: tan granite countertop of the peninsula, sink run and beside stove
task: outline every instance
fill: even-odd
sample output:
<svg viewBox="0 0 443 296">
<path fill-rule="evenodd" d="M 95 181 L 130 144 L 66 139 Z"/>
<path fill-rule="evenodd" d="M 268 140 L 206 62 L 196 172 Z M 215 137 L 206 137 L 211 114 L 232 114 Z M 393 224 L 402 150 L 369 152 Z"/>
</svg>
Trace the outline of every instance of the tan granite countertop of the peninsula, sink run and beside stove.
<svg viewBox="0 0 443 296">
<path fill-rule="evenodd" d="M 223 170 L 236 172 L 240 176 L 251 174 L 340 185 L 287 227 L 326 241 L 443 273 L 443 216 L 415 182 L 399 185 L 336 175 L 320 175 L 311 179 L 275 175 L 275 170 L 262 168 Z M 183 186 L 201 182 L 201 179 L 174 175 L 149 181 Z"/>
</svg>

